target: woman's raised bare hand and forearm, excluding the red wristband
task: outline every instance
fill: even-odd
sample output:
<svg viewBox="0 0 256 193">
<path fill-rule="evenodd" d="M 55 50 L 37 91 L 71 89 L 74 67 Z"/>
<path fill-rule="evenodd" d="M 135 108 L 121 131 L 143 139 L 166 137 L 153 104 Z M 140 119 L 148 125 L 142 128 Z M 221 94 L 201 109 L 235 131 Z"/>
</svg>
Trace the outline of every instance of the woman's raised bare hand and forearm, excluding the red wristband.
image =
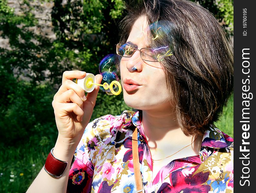
<svg viewBox="0 0 256 193">
<path fill-rule="evenodd" d="M 52 101 L 59 132 L 53 154 L 56 159 L 68 162 L 67 168 L 60 178 L 54 178 L 42 169 L 27 190 L 27 193 L 66 192 L 73 154 L 81 140 L 85 127 L 90 121 L 99 91 L 99 87 L 96 86 L 92 92 L 85 96 L 84 90 L 72 81 L 74 78 L 84 78 L 85 76 L 86 73 L 82 71 L 65 71 L 62 77 L 62 86 L 54 95 Z M 97 83 L 100 84 L 102 76 L 96 75 L 95 77 Z"/>
</svg>

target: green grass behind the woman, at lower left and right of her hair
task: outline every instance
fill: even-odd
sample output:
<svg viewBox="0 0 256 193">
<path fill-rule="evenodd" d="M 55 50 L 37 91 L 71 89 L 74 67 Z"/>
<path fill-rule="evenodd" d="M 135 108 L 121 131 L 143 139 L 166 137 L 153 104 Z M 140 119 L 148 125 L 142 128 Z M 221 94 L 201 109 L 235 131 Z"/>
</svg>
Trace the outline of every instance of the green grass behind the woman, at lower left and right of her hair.
<svg viewBox="0 0 256 193">
<path fill-rule="evenodd" d="M 233 137 L 233 96 L 223 109 L 223 115 L 215 125 Z M 54 142 L 5 147 L 0 144 L 0 193 L 24 193 L 42 169 Z"/>
</svg>

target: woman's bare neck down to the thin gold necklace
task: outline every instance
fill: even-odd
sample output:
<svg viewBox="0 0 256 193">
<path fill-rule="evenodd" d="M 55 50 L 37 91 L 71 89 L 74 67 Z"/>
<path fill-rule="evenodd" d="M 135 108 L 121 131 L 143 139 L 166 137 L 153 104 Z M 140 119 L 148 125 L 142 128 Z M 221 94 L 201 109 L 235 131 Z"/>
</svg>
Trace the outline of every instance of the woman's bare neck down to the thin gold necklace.
<svg viewBox="0 0 256 193">
<path fill-rule="evenodd" d="M 152 158 L 155 160 L 165 158 L 166 150 L 170 155 L 175 154 L 177 157 L 172 156 L 172 159 L 176 159 L 183 156 L 197 155 L 201 148 L 202 138 L 186 136 L 181 130 L 173 111 L 143 111 L 142 126 Z M 184 149 L 184 147 L 186 148 Z M 184 151 L 186 153 L 181 155 L 180 152 L 184 153 Z M 190 153 L 187 151 L 190 151 Z"/>
</svg>

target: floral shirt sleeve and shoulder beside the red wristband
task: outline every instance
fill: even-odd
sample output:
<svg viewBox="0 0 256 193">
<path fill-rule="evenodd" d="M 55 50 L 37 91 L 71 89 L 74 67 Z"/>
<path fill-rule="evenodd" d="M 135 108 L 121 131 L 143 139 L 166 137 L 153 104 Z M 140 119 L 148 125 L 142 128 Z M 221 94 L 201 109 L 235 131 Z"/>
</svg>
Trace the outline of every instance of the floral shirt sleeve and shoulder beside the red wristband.
<svg viewBox="0 0 256 193">
<path fill-rule="evenodd" d="M 123 116 L 126 117 L 126 114 Z M 121 116 L 104 115 L 87 125 L 75 151 L 76 159 L 69 171 L 68 193 L 89 193 L 93 185 L 98 186 L 97 182 L 93 183 L 94 173 L 104 164 L 102 157 L 105 155 L 106 158 L 109 144 L 118 141 L 116 138 L 119 134 L 115 130 L 122 126 L 124 120 Z"/>
</svg>

